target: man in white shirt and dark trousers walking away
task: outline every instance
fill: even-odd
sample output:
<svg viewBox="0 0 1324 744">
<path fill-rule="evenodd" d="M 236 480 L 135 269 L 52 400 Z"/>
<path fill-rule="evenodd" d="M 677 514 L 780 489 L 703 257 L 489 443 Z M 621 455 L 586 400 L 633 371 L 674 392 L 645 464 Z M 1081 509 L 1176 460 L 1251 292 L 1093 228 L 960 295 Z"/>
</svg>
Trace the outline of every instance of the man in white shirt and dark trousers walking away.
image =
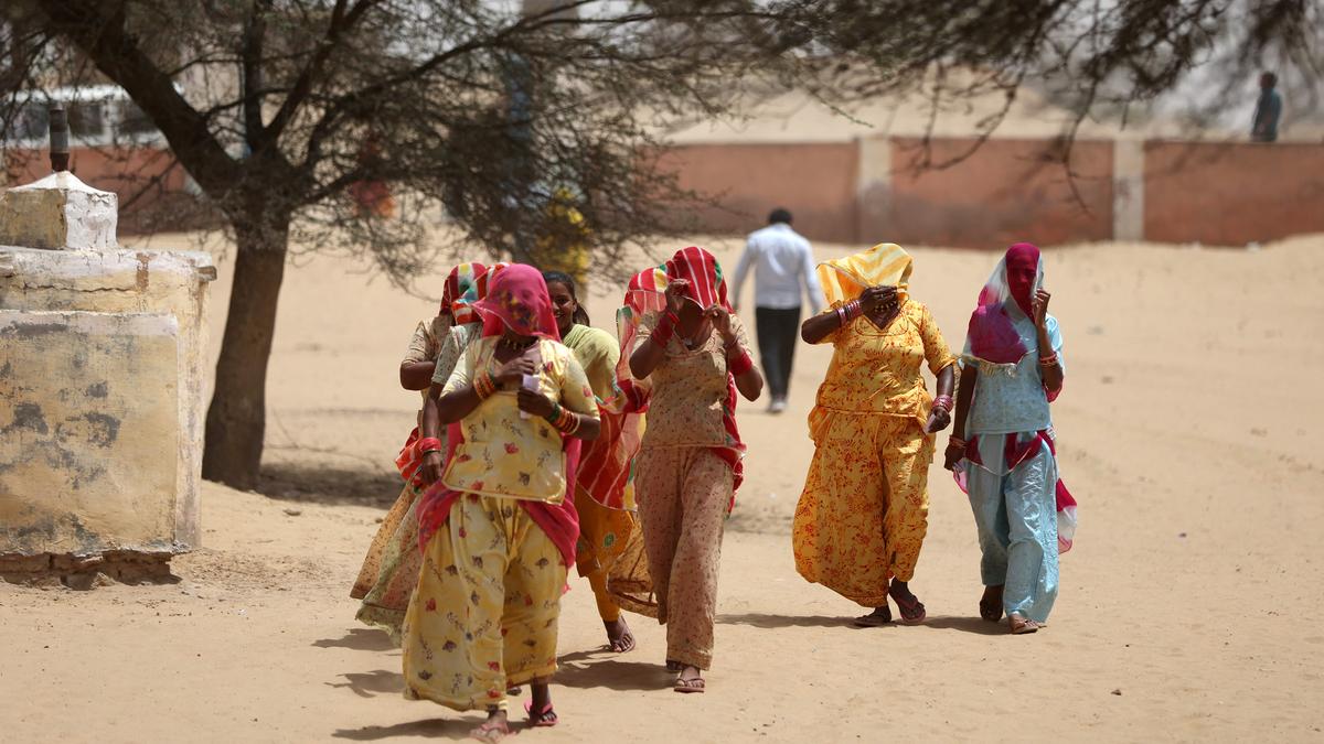
<svg viewBox="0 0 1324 744">
<path fill-rule="evenodd" d="M 809 241 L 790 229 L 790 212 L 777 208 L 768 216 L 768 226 L 749 234 L 744 256 L 736 266 L 732 289 L 736 304 L 749 266 L 753 273 L 753 311 L 759 335 L 763 373 L 772 392 L 771 413 L 786 409 L 790 385 L 790 363 L 800 331 L 800 290 L 809 298 L 809 308 L 822 307 L 822 287 L 814 273 L 814 253 Z"/>
</svg>

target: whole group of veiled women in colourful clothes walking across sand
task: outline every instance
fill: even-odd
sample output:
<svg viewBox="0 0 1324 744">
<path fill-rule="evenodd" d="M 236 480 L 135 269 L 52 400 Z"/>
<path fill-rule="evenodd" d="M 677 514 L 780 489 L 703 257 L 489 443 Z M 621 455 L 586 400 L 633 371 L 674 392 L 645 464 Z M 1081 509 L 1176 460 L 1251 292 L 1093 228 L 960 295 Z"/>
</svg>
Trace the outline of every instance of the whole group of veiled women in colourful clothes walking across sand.
<svg viewBox="0 0 1324 744">
<path fill-rule="evenodd" d="M 1038 250 L 1008 252 L 961 357 L 910 297 L 911 271 L 891 244 L 818 267 L 829 308 L 801 335 L 834 353 L 809 417 L 796 567 L 867 608 L 858 625 L 890 622 L 888 601 L 902 622 L 923 622 L 910 581 L 935 433 L 955 416 L 945 465 L 978 527 L 980 614 L 1034 631 L 1074 524 L 1049 417 L 1062 340 Z M 703 692 L 723 527 L 743 479 L 736 402 L 763 391 L 718 261 L 687 248 L 636 274 L 614 339 L 589 326 L 567 274 L 457 266 L 400 381 L 422 391 L 422 409 L 397 458 L 404 490 L 352 596 L 359 618 L 404 649 L 405 695 L 485 710 L 474 735 L 495 740 L 528 684 L 530 724 L 555 725 L 548 682 L 571 565 L 610 650 L 636 647 L 622 609 L 655 617 L 673 688 Z"/>
</svg>

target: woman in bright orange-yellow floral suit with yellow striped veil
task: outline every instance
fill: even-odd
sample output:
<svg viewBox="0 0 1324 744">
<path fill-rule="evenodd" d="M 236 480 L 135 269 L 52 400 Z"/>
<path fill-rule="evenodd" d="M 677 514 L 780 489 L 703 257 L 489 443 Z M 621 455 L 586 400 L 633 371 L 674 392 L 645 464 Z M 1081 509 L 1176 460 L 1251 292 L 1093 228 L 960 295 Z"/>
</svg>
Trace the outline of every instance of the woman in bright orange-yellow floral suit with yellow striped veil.
<svg viewBox="0 0 1324 744">
<path fill-rule="evenodd" d="M 910 298 L 900 246 L 818 266 L 829 308 L 805 320 L 808 343 L 831 343 L 831 365 L 809 414 L 814 458 L 796 507 L 796 569 L 866 608 L 857 625 L 924 621 L 910 590 L 928 528 L 933 433 L 951 422 L 956 357 L 928 308 Z M 937 377 L 931 398 L 920 373 Z"/>
</svg>

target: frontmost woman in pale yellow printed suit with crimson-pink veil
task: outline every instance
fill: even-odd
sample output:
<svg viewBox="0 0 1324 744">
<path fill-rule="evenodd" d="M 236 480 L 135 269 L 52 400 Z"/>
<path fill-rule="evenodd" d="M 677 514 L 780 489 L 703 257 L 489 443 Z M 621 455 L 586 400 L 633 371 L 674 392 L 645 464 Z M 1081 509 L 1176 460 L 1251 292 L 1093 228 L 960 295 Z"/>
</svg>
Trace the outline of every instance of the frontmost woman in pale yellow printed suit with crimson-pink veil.
<svg viewBox="0 0 1324 744">
<path fill-rule="evenodd" d="M 424 405 L 429 451 L 417 507 L 424 560 L 404 621 L 405 696 L 487 710 L 474 736 L 510 733 L 506 691 L 531 683 L 534 725 L 553 725 L 548 682 L 575 561 L 579 441 L 598 433 L 584 369 L 560 343 L 547 285 L 514 265 L 475 303 L 483 335 Z"/>
</svg>

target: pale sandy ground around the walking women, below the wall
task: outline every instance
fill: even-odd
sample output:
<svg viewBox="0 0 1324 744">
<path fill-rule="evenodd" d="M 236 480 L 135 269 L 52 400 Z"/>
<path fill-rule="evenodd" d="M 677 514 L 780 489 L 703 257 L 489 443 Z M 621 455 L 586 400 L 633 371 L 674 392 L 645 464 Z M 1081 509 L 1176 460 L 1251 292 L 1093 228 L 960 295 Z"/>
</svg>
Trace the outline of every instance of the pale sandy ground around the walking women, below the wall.
<svg viewBox="0 0 1324 744">
<path fill-rule="evenodd" d="M 739 248 L 710 245 L 727 261 Z M 994 256 L 914 253 L 914 294 L 959 344 Z M 669 690 L 662 629 L 642 618 L 634 653 L 605 653 L 573 579 L 563 723 L 519 740 L 1324 740 L 1324 237 L 1254 253 L 1064 246 L 1047 261 L 1070 364 L 1054 417 L 1082 502 L 1050 629 L 1013 638 L 976 620 L 974 528 L 937 465 L 912 584 L 927 625 L 853 629 L 855 606 L 796 575 L 805 414 L 829 359 L 801 348 L 790 410 L 741 414 L 748 483 L 708 692 Z M 205 545 L 173 563 L 176 584 L 0 584 L 0 739 L 455 739 L 479 720 L 404 700 L 399 651 L 354 621 L 350 582 L 397 494 L 391 459 L 417 404 L 396 364 L 433 307 L 354 269 L 287 273 L 262 492 L 205 486 Z M 591 308 L 610 319 L 606 297 Z"/>
</svg>

